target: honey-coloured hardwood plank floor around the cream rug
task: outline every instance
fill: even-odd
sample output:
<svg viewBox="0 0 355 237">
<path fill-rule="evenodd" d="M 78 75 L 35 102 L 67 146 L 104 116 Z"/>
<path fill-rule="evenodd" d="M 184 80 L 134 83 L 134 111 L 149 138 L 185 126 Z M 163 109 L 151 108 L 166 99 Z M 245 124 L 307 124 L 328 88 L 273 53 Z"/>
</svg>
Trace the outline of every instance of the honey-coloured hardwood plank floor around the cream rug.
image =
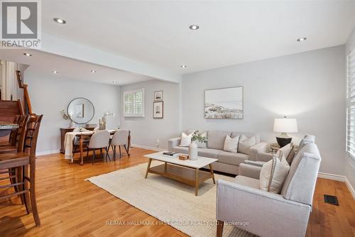
<svg viewBox="0 0 355 237">
<path fill-rule="evenodd" d="M 88 161 L 82 166 L 69 165 L 62 154 L 39 157 L 36 194 L 42 226 L 35 227 L 33 216 L 26 215 L 20 199 L 13 197 L 0 202 L 0 236 L 186 236 L 167 225 L 132 225 L 156 219 L 84 181 L 148 162 L 143 158 L 148 153 L 153 151 L 133 148 L 131 158 L 117 156 L 115 162 Z M 339 206 L 324 204 L 323 194 L 336 194 Z M 344 182 L 318 179 L 313 203 L 307 236 L 355 236 L 355 202 Z"/>
</svg>

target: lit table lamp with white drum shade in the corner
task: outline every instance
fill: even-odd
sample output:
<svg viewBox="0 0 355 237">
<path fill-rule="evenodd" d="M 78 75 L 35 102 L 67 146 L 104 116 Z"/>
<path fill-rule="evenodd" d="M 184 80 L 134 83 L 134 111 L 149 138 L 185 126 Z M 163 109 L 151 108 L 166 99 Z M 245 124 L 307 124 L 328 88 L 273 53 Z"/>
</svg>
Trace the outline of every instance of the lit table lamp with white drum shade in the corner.
<svg viewBox="0 0 355 237">
<path fill-rule="evenodd" d="M 275 118 L 273 123 L 273 131 L 281 134 L 276 137 L 278 145 L 284 147 L 291 143 L 292 138 L 287 133 L 297 133 L 297 119 L 296 118 Z"/>
</svg>

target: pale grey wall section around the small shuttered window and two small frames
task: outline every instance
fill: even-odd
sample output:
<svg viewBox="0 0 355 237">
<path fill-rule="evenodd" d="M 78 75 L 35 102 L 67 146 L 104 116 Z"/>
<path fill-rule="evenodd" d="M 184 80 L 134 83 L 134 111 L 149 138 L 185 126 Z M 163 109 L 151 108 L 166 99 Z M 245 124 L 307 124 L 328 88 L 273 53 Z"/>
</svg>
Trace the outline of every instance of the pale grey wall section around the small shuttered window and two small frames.
<svg viewBox="0 0 355 237">
<path fill-rule="evenodd" d="M 151 80 L 121 87 L 121 94 L 132 89 L 144 88 L 145 117 L 127 118 L 121 113 L 121 128 L 131 131 L 131 143 L 156 148 L 168 148 L 168 139 L 180 131 L 180 85 L 173 82 Z M 163 91 L 164 118 L 153 118 L 154 92 Z M 123 101 L 123 98 L 121 98 Z M 121 111 L 123 105 L 121 105 Z"/>
</svg>

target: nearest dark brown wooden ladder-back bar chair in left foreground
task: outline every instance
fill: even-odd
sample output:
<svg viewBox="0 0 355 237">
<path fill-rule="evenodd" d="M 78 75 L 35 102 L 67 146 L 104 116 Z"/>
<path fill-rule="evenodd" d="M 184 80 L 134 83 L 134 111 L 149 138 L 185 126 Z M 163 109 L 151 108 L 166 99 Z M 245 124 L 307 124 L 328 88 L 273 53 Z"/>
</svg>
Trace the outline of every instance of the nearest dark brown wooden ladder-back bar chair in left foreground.
<svg viewBox="0 0 355 237">
<path fill-rule="evenodd" d="M 17 187 L 17 190 L 10 194 L 3 194 L 1 199 L 21 195 L 26 206 L 27 214 L 32 212 L 35 226 L 40 226 L 37 203 L 35 199 L 35 150 L 37 147 L 38 131 L 43 115 L 37 116 L 31 114 L 26 126 L 26 135 L 23 142 L 23 151 L 21 153 L 3 153 L 0 154 L 0 170 L 11 168 L 16 169 L 15 183 L 1 185 L 0 189 Z M 28 172 L 29 170 L 29 172 Z M 29 186 L 29 187 L 28 187 Z M 4 192 L 3 192 L 4 193 Z"/>
</svg>

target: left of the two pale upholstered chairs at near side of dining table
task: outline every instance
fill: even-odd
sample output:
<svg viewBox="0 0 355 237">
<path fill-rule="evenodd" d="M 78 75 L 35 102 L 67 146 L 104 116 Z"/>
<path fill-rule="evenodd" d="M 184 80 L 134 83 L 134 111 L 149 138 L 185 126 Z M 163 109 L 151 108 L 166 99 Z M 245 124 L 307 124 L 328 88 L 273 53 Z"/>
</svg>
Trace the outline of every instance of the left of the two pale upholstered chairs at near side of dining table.
<svg viewBox="0 0 355 237">
<path fill-rule="evenodd" d="M 109 146 L 109 139 L 110 139 L 110 133 L 107 130 L 100 130 L 92 134 L 88 145 L 88 149 L 93 150 L 92 165 L 94 165 L 96 149 L 100 149 L 100 155 L 102 156 L 102 149 L 104 148 L 106 152 L 105 158 L 107 159 L 107 156 L 109 157 L 109 153 L 107 150 L 107 147 Z M 110 157 L 109 159 L 111 160 Z"/>
</svg>

